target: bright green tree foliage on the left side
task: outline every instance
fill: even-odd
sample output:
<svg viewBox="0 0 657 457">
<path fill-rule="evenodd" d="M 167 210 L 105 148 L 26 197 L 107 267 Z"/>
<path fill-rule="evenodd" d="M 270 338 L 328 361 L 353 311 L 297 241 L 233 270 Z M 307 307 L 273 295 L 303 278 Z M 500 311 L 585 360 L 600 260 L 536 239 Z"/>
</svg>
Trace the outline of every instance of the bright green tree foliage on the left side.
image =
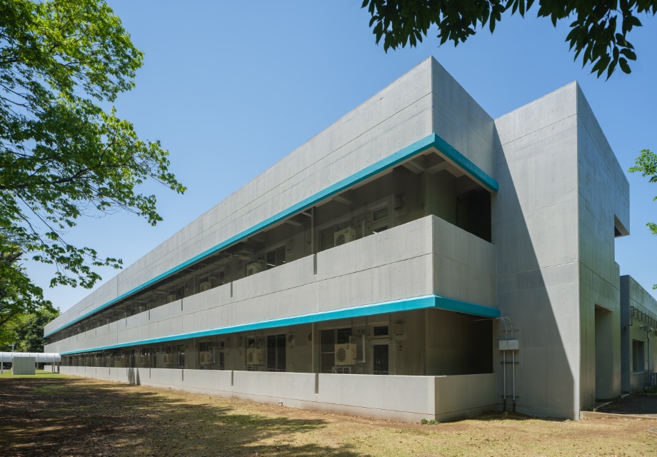
<svg viewBox="0 0 657 457">
<path fill-rule="evenodd" d="M 66 240 L 81 216 L 129 211 L 155 225 L 156 197 L 139 186 L 185 191 L 168 151 L 111 107 L 142 61 L 104 0 L 0 0 L 0 316 L 44 304 L 28 258 L 54 266 L 51 286 L 89 288 L 94 267 L 120 268 Z"/>
</svg>

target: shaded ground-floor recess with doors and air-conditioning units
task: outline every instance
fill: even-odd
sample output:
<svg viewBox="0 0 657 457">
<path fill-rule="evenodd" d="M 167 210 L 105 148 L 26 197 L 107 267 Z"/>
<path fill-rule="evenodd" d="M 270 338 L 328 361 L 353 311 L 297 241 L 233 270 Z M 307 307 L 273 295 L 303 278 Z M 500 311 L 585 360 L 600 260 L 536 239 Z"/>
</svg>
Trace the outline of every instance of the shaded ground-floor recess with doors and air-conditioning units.
<svg viewBox="0 0 657 457">
<path fill-rule="evenodd" d="M 436 309 L 62 356 L 64 366 L 403 376 L 493 372 L 493 319 Z M 431 329 L 431 330 L 428 330 Z"/>
</svg>

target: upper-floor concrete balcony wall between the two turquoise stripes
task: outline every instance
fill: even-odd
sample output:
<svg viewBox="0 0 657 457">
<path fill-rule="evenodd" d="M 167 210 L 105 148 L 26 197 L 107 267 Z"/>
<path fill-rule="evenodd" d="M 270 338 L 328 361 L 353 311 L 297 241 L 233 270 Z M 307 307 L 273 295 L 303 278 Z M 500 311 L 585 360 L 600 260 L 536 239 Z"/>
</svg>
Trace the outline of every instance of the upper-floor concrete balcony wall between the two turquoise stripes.
<svg viewBox="0 0 657 457">
<path fill-rule="evenodd" d="M 432 293 L 493 304 L 493 246 L 436 216 L 322 251 L 316 263 L 316 274 L 313 257 L 301 258 L 56 341 L 46 350 L 111 346 Z M 456 281 L 448 268 L 468 276 Z"/>
</svg>

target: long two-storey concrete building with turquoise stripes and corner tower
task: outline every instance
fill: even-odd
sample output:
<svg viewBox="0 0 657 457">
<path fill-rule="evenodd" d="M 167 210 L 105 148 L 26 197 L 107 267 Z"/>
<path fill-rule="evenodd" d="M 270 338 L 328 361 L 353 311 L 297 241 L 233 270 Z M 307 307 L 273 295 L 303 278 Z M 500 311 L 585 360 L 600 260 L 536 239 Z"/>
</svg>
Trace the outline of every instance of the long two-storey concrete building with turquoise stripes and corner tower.
<svg viewBox="0 0 657 457">
<path fill-rule="evenodd" d="M 491 119 L 430 58 L 62 313 L 46 350 L 289 406 L 578 418 L 625 382 L 628 192 L 576 83 Z"/>
</svg>

